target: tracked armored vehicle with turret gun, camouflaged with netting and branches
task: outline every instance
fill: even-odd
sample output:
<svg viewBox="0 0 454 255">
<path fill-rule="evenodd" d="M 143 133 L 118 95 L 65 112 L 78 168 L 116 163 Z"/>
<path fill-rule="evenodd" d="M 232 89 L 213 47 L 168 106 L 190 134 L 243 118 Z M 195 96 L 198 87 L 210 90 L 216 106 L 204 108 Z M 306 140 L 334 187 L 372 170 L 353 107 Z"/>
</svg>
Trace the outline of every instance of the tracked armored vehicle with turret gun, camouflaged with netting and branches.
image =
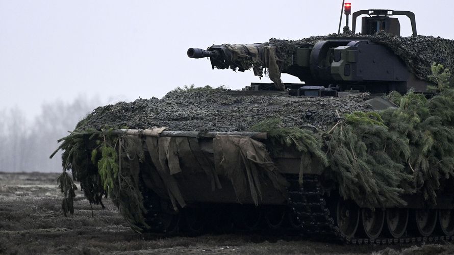
<svg viewBox="0 0 454 255">
<path fill-rule="evenodd" d="M 346 4 L 347 17 L 349 8 L 350 5 Z M 356 19 L 362 14 L 368 16 L 362 18 L 362 34 L 358 35 L 355 34 Z M 396 93 L 392 91 L 397 91 L 397 94 L 412 91 L 411 98 L 426 100 L 424 93 L 431 83 L 425 81 L 426 77 L 417 69 L 414 59 L 406 59 L 401 51 L 396 50 L 398 42 L 395 38 L 399 38 L 400 25 L 393 15 L 408 16 L 416 38 L 412 12 L 363 10 L 352 14 L 352 31 L 346 27 L 342 35 L 296 42 L 272 39 L 261 44 L 222 44 L 210 46 L 207 50 L 188 49 L 190 58 L 210 58 L 213 69 L 244 71 L 252 68 L 259 76 L 265 70 L 273 81 L 272 84 L 253 83 L 242 91 L 219 94 L 226 98 L 227 103 L 222 103 L 225 107 L 221 104 L 221 110 L 213 115 L 218 114 L 224 122 L 234 122 L 221 111 L 239 106 L 240 99 L 235 98 L 241 97 L 249 102 L 241 106 L 250 106 L 250 116 L 259 112 L 257 108 L 260 107 L 254 107 L 256 101 L 247 101 L 245 97 L 259 98 L 262 104 L 275 111 L 286 106 L 289 111 L 282 114 L 284 119 L 284 115 L 304 110 L 296 107 L 298 102 L 310 100 L 310 104 L 322 102 L 323 106 L 334 107 L 330 110 L 333 124 L 323 134 L 317 133 L 319 131 L 313 125 L 286 129 L 285 125 L 271 125 L 272 121 L 255 129 L 248 126 L 245 129 L 238 127 L 236 131 L 216 130 L 216 126 L 222 127 L 219 118 L 209 130 L 194 131 L 191 128 L 191 131 L 189 127 L 188 130 L 176 130 L 172 123 L 190 125 L 191 120 L 202 116 L 180 116 L 175 111 L 173 122 L 159 122 L 167 128 L 152 127 L 142 117 L 133 116 L 140 123 L 135 126 L 139 128 L 132 129 L 130 125 L 129 129 L 102 130 L 93 124 L 92 127 L 98 131 L 90 133 L 85 129 L 65 138 L 61 146 L 65 150 L 64 167 L 72 169 L 73 174 L 75 172 L 74 178 L 84 185 L 82 188 L 91 202 L 99 202 L 106 193 L 113 196 L 122 214 L 140 232 L 172 234 L 181 231 L 196 235 L 235 228 L 287 232 L 350 243 L 451 240 L 454 234 L 454 213 L 451 213 L 454 186 L 449 181 L 452 178 L 449 179 L 448 171 L 443 173 L 445 177 L 442 174 L 435 176 L 434 172 L 430 180 L 437 187 L 435 190 L 425 189 L 427 186 L 424 185 L 432 182 L 428 179 L 424 179 L 426 182 L 421 185 L 416 185 L 419 181 L 412 181 L 412 176 L 417 173 L 424 176 L 432 173 L 418 170 L 417 167 L 423 164 L 409 156 L 414 150 L 394 145 L 412 143 L 405 128 L 384 127 L 383 123 L 400 115 L 389 113 L 390 119 L 382 120 L 383 116 L 373 112 L 364 116 L 350 112 L 351 123 L 356 123 L 354 120 L 358 118 L 366 119 L 368 123 L 374 123 L 372 129 L 371 125 L 348 127 L 345 123 L 349 119 L 335 110 L 346 104 L 342 100 L 357 97 L 369 99 L 375 110 L 397 108 L 398 104 L 383 97 L 387 93 Z M 384 43 L 380 35 L 385 33 L 394 41 Z M 281 81 L 281 73 L 294 75 L 304 83 L 285 84 Z M 205 100 L 204 93 L 214 92 L 194 93 L 202 98 L 198 100 Z M 273 98 L 285 102 L 275 107 Z M 178 107 L 195 104 L 194 100 L 189 104 L 172 101 L 166 104 L 173 104 L 178 110 Z M 267 100 L 270 100 L 269 104 Z M 145 107 L 143 104 L 146 102 L 141 106 L 139 103 L 143 102 L 137 101 L 134 107 L 128 105 L 128 111 L 142 111 L 140 107 Z M 210 104 L 212 101 L 206 101 L 204 107 Z M 293 111 L 292 106 L 295 106 Z M 114 114 L 124 114 L 124 109 L 117 111 L 115 106 L 97 109 L 81 121 L 77 130 L 90 121 L 95 124 L 102 122 L 101 116 L 109 112 L 112 116 L 122 116 Z M 146 109 L 149 114 L 159 115 L 155 108 Z M 407 108 L 403 110 L 408 111 Z M 248 120 L 247 114 L 244 113 L 244 120 Z M 286 120 L 296 119 L 296 115 L 291 116 Z M 312 117 L 302 114 L 298 119 Z M 358 130 L 361 134 L 355 137 L 370 138 L 368 134 L 379 132 L 381 136 L 378 140 L 362 142 L 351 136 Z M 392 136 L 397 133 L 405 138 Z M 99 135 L 97 142 L 93 139 L 95 135 Z M 107 136 L 115 138 L 110 152 L 104 150 L 109 144 Z M 434 140 L 436 138 L 424 141 L 432 146 Z M 383 141 L 383 148 L 374 152 L 374 144 Z M 345 150 L 336 150 L 345 144 Z M 99 146 L 104 147 L 99 149 Z M 96 154 L 97 150 L 102 150 L 102 155 Z M 74 151 L 81 152 L 74 154 Z M 427 150 L 421 151 L 426 153 Z M 437 150 L 434 157 L 449 152 L 446 151 Z M 440 156 L 437 162 L 442 162 L 445 156 Z M 113 159 L 112 165 L 106 163 L 110 161 L 102 161 L 109 157 Z M 390 159 L 394 161 L 384 163 L 391 162 Z M 414 163 L 416 161 L 418 166 Z M 429 168 L 438 164 L 431 163 L 436 161 L 424 162 Z M 368 166 L 370 164 L 373 166 Z M 350 166 L 356 168 L 350 169 Z M 89 174 L 82 174 L 84 171 Z M 100 177 L 98 172 L 104 175 Z M 84 180 L 97 181 L 92 184 Z M 100 183 L 104 189 L 96 188 Z M 70 194 L 65 194 L 65 199 L 72 199 Z"/>
</svg>

